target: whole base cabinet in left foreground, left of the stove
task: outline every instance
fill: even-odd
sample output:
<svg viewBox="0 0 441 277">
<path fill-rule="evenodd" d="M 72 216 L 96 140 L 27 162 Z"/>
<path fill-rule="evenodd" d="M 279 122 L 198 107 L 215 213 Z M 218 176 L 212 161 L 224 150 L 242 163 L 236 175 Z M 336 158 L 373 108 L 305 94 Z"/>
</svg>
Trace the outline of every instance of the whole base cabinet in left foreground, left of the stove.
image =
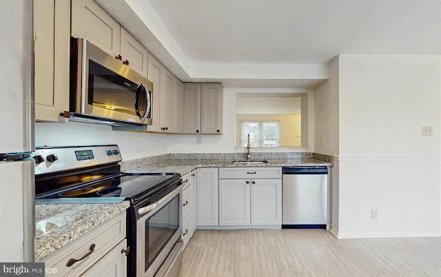
<svg viewBox="0 0 441 277">
<path fill-rule="evenodd" d="M 43 258 L 40 262 L 52 269 L 45 276 L 126 276 L 125 218 L 121 212 Z"/>
</svg>

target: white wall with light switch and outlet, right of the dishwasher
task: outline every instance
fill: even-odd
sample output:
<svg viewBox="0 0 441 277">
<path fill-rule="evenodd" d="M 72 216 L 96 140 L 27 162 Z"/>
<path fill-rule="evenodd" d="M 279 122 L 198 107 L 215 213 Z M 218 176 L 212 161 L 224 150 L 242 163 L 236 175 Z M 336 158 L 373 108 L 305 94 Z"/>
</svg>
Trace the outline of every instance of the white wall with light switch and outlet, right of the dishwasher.
<svg viewBox="0 0 441 277">
<path fill-rule="evenodd" d="M 441 236 L 440 57 L 340 55 L 338 79 L 338 237 Z"/>
</svg>

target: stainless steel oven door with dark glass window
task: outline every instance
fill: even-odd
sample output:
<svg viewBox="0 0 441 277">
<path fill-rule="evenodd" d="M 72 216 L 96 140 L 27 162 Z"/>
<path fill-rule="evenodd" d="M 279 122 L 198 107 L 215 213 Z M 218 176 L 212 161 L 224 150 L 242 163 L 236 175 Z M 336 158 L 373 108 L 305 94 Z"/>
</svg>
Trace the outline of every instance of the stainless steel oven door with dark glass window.
<svg viewBox="0 0 441 277">
<path fill-rule="evenodd" d="M 180 186 L 156 203 L 135 209 L 141 216 L 136 220 L 136 277 L 154 276 L 181 238 L 182 204 Z"/>
</svg>

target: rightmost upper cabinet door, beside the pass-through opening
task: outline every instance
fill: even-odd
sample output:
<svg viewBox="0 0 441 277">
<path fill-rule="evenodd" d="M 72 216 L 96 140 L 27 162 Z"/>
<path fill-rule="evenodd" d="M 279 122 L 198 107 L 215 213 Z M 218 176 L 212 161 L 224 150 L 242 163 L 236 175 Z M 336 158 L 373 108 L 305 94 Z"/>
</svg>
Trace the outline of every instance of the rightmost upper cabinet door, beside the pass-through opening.
<svg viewBox="0 0 441 277">
<path fill-rule="evenodd" d="M 222 84 L 202 84 L 202 126 L 203 134 L 222 134 Z"/>
</svg>

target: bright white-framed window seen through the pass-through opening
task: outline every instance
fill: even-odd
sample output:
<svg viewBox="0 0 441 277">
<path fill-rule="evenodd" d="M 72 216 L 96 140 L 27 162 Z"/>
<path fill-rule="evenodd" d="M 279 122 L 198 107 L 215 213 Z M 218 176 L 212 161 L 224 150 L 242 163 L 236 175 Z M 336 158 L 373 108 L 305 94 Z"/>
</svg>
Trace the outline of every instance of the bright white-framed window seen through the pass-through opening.
<svg viewBox="0 0 441 277">
<path fill-rule="evenodd" d="M 278 147 L 278 121 L 260 122 L 243 121 L 242 146 L 247 147 L 248 134 L 250 147 Z"/>
</svg>

